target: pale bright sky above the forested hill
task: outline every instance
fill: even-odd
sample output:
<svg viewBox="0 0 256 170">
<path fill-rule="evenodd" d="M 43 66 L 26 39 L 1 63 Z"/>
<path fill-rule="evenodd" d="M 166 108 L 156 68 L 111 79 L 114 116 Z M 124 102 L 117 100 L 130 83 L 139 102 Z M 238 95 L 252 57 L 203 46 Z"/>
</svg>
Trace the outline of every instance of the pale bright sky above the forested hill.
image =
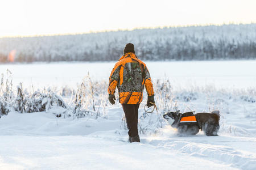
<svg viewBox="0 0 256 170">
<path fill-rule="evenodd" d="M 0 36 L 256 23 L 256 0 L 0 0 Z"/>
</svg>

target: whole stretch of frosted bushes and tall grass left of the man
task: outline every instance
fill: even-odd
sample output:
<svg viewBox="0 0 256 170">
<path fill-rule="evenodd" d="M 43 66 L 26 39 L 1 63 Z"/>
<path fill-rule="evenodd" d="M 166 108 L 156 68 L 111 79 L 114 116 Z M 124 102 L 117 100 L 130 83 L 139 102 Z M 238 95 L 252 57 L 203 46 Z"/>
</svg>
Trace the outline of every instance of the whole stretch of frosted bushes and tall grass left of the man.
<svg viewBox="0 0 256 170">
<path fill-rule="evenodd" d="M 7 70 L 6 75 L 2 74 L 0 84 L 0 114 L 6 115 L 11 110 L 19 113 L 51 112 L 54 108 L 63 108 L 63 113 L 56 114 L 61 117 L 82 118 L 98 117 L 108 118 L 105 112 L 107 105 L 106 82 L 93 82 L 90 76 L 81 83 L 77 92 L 72 88 L 64 87 L 60 90 L 44 88 L 43 90 L 28 91 L 23 88 L 22 83 L 13 90 L 11 72 Z M 65 99 L 65 101 L 64 101 Z M 67 104 L 68 101 L 73 101 Z"/>
</svg>

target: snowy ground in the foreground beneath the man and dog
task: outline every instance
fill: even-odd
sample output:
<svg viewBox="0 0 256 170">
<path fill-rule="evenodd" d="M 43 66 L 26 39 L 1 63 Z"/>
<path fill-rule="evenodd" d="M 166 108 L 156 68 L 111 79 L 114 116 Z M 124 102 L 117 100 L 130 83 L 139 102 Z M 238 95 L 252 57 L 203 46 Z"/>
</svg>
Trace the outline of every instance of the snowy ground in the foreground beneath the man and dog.
<svg viewBox="0 0 256 170">
<path fill-rule="evenodd" d="M 16 113 L 0 119 L 0 169 L 255 169 L 256 135 L 236 137 L 203 133 L 179 137 L 170 126 L 161 135 L 141 135 L 127 143 L 119 129 L 122 110 L 110 120 L 56 118 L 53 114 Z M 140 109 L 142 112 L 142 109 Z M 241 122 L 237 116 L 236 121 Z M 251 125 L 245 128 L 256 128 Z M 192 167 L 191 167 L 192 166 Z"/>
</svg>

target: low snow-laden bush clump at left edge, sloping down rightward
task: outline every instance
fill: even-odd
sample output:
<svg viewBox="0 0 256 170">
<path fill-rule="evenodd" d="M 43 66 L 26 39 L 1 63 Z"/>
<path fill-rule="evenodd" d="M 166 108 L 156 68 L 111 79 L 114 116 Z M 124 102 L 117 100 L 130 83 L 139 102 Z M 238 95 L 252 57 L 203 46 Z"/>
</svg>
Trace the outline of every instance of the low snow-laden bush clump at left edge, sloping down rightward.
<svg viewBox="0 0 256 170">
<path fill-rule="evenodd" d="M 23 90 L 22 83 L 13 90 L 11 71 L 7 70 L 6 76 L 2 74 L 0 84 L 0 114 L 8 114 L 11 110 L 19 113 L 49 112 L 54 107 L 68 108 L 61 96 L 51 88 L 32 93 Z"/>
</svg>

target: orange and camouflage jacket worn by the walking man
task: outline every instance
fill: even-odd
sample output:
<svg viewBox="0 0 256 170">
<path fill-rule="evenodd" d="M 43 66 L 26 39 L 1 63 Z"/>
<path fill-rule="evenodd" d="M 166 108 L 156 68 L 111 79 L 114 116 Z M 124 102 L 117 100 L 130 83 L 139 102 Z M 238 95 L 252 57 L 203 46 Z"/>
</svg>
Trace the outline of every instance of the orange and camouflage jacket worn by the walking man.
<svg viewBox="0 0 256 170">
<path fill-rule="evenodd" d="M 148 96 L 154 95 L 147 66 L 134 53 L 126 53 L 115 64 L 109 77 L 109 94 L 119 92 L 119 103 L 139 104 L 146 87 Z"/>
</svg>

